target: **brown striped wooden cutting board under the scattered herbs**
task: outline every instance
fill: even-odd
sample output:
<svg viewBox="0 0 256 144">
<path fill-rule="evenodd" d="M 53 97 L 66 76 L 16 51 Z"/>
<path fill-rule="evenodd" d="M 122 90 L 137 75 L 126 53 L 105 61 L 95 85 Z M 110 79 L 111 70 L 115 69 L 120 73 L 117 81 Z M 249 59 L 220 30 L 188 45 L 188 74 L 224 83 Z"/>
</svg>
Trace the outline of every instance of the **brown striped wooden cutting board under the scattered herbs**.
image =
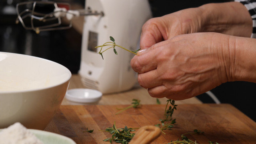
<svg viewBox="0 0 256 144">
<path fill-rule="evenodd" d="M 143 105 L 130 108 L 118 115 L 116 108 L 125 105 L 96 106 L 60 106 L 46 131 L 72 138 L 77 144 L 109 144 L 102 140 L 111 135 L 105 130 L 112 127 L 114 121 L 118 128 L 139 128 L 160 123 L 165 105 Z M 188 138 L 200 144 L 216 141 L 219 144 L 256 144 L 256 123 L 229 104 L 182 104 L 178 105 L 173 118 L 176 125 L 172 130 L 165 130 L 151 144 L 166 144 L 177 140 L 180 135 L 202 130 L 204 134 L 188 134 Z M 93 133 L 83 132 L 94 129 Z M 114 142 L 113 142 L 114 143 Z"/>
</svg>

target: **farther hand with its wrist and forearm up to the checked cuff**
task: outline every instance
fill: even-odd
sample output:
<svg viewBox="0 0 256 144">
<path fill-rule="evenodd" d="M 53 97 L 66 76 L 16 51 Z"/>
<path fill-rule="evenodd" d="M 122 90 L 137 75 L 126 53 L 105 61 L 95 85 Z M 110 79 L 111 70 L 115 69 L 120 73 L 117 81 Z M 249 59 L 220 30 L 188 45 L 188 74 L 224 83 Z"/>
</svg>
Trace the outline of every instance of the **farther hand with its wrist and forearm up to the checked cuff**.
<svg viewBox="0 0 256 144">
<path fill-rule="evenodd" d="M 142 27 L 140 48 L 146 49 L 174 36 L 195 32 L 250 37 L 252 18 L 239 2 L 212 3 L 180 10 L 148 20 Z"/>
</svg>

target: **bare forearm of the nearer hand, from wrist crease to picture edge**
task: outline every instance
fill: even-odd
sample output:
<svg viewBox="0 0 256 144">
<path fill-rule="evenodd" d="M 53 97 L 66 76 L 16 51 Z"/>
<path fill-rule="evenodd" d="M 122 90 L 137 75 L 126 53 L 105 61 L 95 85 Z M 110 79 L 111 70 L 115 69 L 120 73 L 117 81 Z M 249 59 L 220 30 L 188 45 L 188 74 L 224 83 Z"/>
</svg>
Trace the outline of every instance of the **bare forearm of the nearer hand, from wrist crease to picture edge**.
<svg viewBox="0 0 256 144">
<path fill-rule="evenodd" d="M 233 44 L 230 80 L 256 82 L 256 39 L 234 37 Z"/>
</svg>

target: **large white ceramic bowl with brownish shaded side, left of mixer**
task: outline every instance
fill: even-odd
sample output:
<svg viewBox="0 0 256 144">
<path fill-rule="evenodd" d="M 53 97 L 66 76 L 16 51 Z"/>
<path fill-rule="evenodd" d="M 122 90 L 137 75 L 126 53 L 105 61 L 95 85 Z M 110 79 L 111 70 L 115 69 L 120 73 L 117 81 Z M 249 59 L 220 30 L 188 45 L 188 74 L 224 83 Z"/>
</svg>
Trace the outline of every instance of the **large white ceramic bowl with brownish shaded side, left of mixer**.
<svg viewBox="0 0 256 144">
<path fill-rule="evenodd" d="M 71 72 L 50 60 L 0 52 L 0 128 L 43 130 L 65 96 Z"/>
</svg>

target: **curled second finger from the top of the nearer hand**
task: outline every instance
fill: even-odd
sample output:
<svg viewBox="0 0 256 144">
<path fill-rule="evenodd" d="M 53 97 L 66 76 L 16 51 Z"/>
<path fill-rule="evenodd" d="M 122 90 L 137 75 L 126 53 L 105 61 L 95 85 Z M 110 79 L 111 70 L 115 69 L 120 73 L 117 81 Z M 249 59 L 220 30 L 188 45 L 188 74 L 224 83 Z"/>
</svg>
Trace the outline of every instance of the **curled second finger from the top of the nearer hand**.
<svg viewBox="0 0 256 144">
<path fill-rule="evenodd" d="M 138 82 L 143 88 L 153 88 L 162 85 L 162 80 L 156 69 L 138 74 Z"/>
</svg>

